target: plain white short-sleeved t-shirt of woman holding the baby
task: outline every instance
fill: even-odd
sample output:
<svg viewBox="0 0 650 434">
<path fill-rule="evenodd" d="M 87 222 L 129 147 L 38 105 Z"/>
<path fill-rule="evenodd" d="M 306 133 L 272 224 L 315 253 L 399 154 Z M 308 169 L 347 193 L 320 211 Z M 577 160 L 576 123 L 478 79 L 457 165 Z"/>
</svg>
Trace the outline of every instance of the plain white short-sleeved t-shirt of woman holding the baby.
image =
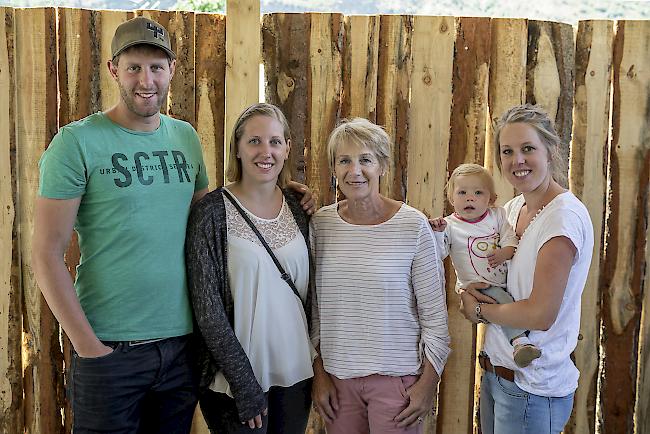
<svg viewBox="0 0 650 434">
<path fill-rule="evenodd" d="M 523 196 L 509 201 L 505 208 L 514 227 Z M 512 346 L 498 326 L 489 325 L 484 351 L 492 364 L 515 371 L 515 383 L 540 396 L 566 396 L 578 387 L 578 369 L 571 361 L 580 329 L 580 298 L 591 263 L 594 230 L 585 206 L 571 192 L 557 195 L 526 228 L 508 269 L 508 292 L 515 300 L 527 299 L 533 288 L 537 253 L 552 238 L 567 237 L 576 248 L 562 304 L 557 318 L 547 331 L 531 330 L 528 338 L 542 350 L 542 356 L 526 368 L 518 368 Z"/>
</svg>

